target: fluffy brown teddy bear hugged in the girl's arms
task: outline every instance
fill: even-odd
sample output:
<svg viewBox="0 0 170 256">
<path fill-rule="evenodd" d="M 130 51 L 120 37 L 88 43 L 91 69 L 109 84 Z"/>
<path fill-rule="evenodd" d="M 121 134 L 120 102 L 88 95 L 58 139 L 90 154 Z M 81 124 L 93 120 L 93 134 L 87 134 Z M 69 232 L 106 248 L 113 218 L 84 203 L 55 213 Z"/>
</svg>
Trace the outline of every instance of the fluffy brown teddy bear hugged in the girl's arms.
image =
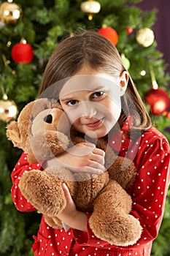
<svg viewBox="0 0 170 256">
<path fill-rule="evenodd" d="M 7 125 L 7 138 L 27 153 L 29 163 L 42 162 L 42 166 L 45 160 L 85 141 L 70 127 L 59 102 L 47 98 L 29 102 L 18 121 Z M 135 244 L 142 227 L 130 214 L 132 200 L 127 190 L 134 182 L 136 167 L 130 159 L 116 156 L 103 138 L 95 144 L 105 151 L 104 173 L 73 173 L 61 165 L 30 170 L 20 178 L 20 191 L 44 214 L 48 225 L 61 228 L 63 223 L 57 215 L 66 207 L 65 182 L 77 209 L 91 212 L 89 225 L 98 238 L 117 246 Z"/>
</svg>

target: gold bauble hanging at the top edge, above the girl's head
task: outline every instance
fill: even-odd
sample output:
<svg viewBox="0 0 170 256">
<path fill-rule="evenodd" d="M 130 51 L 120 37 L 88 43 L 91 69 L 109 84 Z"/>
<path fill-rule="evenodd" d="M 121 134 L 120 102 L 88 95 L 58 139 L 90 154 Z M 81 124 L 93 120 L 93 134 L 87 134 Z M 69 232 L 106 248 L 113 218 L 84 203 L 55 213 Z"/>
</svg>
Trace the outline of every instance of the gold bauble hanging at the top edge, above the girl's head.
<svg viewBox="0 0 170 256">
<path fill-rule="evenodd" d="M 92 20 L 93 14 L 100 12 L 101 4 L 93 0 L 83 1 L 80 5 L 80 9 L 82 12 L 88 13 L 88 19 Z"/>
</svg>

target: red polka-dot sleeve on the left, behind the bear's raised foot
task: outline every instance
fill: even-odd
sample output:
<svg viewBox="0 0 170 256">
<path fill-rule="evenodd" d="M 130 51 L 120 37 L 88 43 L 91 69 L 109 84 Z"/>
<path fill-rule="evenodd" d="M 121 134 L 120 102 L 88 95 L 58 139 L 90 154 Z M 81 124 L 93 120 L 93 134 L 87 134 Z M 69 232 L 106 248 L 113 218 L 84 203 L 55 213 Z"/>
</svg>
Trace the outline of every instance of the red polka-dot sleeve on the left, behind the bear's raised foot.
<svg viewBox="0 0 170 256">
<path fill-rule="evenodd" d="M 20 177 L 23 176 L 23 173 L 29 170 L 40 170 L 41 165 L 39 163 L 29 164 L 27 161 L 27 154 L 23 152 L 20 159 L 18 160 L 17 164 L 15 165 L 14 170 L 12 171 L 11 178 L 12 178 L 12 200 L 15 204 L 15 207 L 18 211 L 35 211 L 36 209 L 31 206 L 31 203 L 23 197 L 18 187 Z"/>
</svg>

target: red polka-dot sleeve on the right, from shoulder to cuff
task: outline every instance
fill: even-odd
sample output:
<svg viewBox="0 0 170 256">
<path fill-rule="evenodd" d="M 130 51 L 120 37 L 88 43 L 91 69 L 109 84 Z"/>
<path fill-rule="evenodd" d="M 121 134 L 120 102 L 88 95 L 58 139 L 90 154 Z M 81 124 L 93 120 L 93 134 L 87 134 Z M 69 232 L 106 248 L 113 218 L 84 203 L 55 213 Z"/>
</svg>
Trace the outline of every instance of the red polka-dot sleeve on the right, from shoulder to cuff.
<svg viewBox="0 0 170 256">
<path fill-rule="evenodd" d="M 133 152 L 133 150 L 132 150 Z M 136 154 L 137 176 L 131 190 L 131 215 L 139 219 L 142 236 L 131 248 L 147 244 L 158 236 L 169 187 L 169 143 L 163 135 L 146 132 Z M 90 218 L 90 214 L 88 219 Z M 118 247 L 97 238 L 87 223 L 88 232 L 73 230 L 77 244 L 98 248 Z"/>
</svg>

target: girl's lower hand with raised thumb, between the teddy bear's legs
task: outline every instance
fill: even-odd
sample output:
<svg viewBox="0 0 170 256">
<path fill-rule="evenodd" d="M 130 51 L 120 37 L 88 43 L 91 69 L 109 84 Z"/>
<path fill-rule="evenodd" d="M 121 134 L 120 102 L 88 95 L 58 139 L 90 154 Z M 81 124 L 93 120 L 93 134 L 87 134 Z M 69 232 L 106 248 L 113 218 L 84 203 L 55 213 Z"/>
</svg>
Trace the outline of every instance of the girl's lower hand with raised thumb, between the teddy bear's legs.
<svg viewBox="0 0 170 256">
<path fill-rule="evenodd" d="M 63 183 L 63 192 L 66 196 L 66 208 L 63 209 L 61 214 L 58 214 L 58 219 L 64 222 L 69 227 L 75 228 L 77 230 L 87 231 L 87 221 L 88 217 L 82 212 L 77 211 L 77 208 L 72 200 L 69 189 L 66 184 Z"/>
</svg>

